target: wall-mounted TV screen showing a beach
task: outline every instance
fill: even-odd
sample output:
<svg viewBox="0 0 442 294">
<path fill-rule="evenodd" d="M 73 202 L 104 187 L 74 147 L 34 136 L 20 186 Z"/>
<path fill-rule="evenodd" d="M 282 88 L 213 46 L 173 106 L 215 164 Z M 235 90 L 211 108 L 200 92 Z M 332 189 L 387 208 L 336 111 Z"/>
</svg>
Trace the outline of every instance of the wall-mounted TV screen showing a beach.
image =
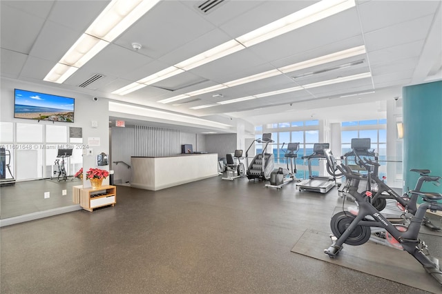
<svg viewBox="0 0 442 294">
<path fill-rule="evenodd" d="M 75 99 L 15 89 L 14 117 L 74 122 Z"/>
</svg>

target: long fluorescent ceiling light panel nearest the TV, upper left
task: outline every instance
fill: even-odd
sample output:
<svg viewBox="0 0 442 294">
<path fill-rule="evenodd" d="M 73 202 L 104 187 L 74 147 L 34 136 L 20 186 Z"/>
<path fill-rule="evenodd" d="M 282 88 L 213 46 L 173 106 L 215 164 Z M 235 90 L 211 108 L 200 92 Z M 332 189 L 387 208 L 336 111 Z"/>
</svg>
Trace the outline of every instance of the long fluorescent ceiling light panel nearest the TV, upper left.
<svg viewBox="0 0 442 294">
<path fill-rule="evenodd" d="M 74 43 L 44 81 L 62 84 L 70 75 L 132 26 L 160 0 L 113 0 Z M 124 91 L 122 91 L 124 92 Z M 120 94 L 124 95 L 124 94 Z"/>
</svg>

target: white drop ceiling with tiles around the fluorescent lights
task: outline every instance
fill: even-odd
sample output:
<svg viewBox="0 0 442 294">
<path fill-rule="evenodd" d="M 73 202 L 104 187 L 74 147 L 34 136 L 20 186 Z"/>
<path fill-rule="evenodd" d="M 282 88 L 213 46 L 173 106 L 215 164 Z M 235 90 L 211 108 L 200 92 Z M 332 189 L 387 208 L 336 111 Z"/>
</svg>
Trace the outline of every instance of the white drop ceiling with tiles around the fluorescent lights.
<svg viewBox="0 0 442 294">
<path fill-rule="evenodd" d="M 359 109 L 364 110 L 360 118 L 385 116 L 385 101 L 400 97 L 403 86 L 442 77 L 441 1 L 356 1 L 353 8 L 128 95 L 112 94 L 317 1 L 225 0 L 207 14 L 197 8 L 202 2 L 160 1 L 63 84 L 53 84 L 44 77 L 109 1 L 1 1 L 1 77 L 162 110 L 165 126 L 167 112 L 213 121 L 240 118 L 255 125 L 351 119 Z M 134 42 L 142 48 L 134 50 Z M 356 46 L 365 46 L 366 53 L 169 104 L 158 102 Z M 217 104 L 363 72 L 369 77 Z M 79 86 L 97 74 L 103 77 Z M 216 106 L 192 109 L 208 104 Z"/>
</svg>

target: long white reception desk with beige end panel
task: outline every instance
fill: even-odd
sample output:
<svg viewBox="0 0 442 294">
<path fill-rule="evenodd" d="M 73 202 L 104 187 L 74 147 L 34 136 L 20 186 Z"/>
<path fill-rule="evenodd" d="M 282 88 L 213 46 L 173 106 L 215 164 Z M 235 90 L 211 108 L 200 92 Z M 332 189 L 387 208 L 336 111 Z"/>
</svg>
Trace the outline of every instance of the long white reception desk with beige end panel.
<svg viewBox="0 0 442 294">
<path fill-rule="evenodd" d="M 161 190 L 218 175 L 218 154 L 131 157 L 131 186 Z"/>
</svg>

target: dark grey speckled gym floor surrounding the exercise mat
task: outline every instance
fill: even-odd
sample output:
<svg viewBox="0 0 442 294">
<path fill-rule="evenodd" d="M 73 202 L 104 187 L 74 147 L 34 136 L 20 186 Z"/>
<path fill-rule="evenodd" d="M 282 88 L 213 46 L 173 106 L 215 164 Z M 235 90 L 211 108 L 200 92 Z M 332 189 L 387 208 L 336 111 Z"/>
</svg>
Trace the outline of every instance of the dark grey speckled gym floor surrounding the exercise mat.
<svg viewBox="0 0 442 294">
<path fill-rule="evenodd" d="M 291 253 L 327 195 L 220 177 L 1 228 L 1 293 L 426 293 Z M 324 246 L 318 244 L 318 250 Z M 404 253 L 407 254 L 407 253 Z"/>
</svg>

